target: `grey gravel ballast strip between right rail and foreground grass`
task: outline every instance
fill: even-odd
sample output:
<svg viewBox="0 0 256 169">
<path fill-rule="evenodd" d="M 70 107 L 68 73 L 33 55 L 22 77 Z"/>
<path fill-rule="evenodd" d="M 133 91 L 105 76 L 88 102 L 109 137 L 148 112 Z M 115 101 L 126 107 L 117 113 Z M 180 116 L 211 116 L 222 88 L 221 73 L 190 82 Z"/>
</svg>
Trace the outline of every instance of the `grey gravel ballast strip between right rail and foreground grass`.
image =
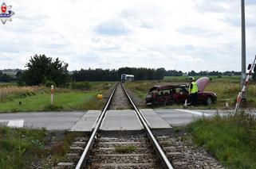
<svg viewBox="0 0 256 169">
<path fill-rule="evenodd" d="M 174 168 L 223 169 L 224 167 L 203 147 L 196 146 L 187 133 L 155 133 Z"/>
</svg>

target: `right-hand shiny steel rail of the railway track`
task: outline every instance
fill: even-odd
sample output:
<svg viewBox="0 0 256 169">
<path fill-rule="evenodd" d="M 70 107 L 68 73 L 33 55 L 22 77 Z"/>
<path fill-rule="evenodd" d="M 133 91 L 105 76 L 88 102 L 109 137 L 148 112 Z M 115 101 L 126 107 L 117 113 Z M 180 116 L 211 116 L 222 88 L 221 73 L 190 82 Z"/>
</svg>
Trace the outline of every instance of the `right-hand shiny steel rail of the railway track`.
<svg viewBox="0 0 256 169">
<path fill-rule="evenodd" d="M 149 129 L 149 125 L 148 123 L 145 121 L 145 117 L 144 115 L 140 112 L 140 109 L 138 109 L 136 107 L 136 105 L 134 104 L 134 102 L 132 101 L 132 98 L 129 96 L 128 92 L 124 89 L 124 86 L 121 84 L 125 94 L 127 95 L 129 102 L 131 102 L 133 108 L 136 110 L 136 113 L 138 115 L 138 117 L 140 118 L 140 121 L 142 122 L 142 124 L 144 125 L 144 128 L 146 129 L 148 136 L 150 138 L 150 140 L 152 141 L 152 145 L 154 148 L 156 148 L 156 152 L 158 153 L 158 155 L 160 156 L 160 160 L 163 164 L 164 168 L 170 168 L 173 169 L 173 167 L 171 166 L 170 161 L 167 159 L 167 156 L 165 156 L 162 148 L 160 147 L 160 144 L 158 144 L 155 136 L 152 134 L 152 131 Z"/>
</svg>

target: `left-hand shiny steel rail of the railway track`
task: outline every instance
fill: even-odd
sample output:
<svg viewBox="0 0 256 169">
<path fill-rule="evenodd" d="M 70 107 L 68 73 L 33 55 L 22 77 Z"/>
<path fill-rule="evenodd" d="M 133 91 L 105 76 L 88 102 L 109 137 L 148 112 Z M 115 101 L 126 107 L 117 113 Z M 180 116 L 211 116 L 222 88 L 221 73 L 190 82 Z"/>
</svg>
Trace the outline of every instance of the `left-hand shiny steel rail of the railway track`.
<svg viewBox="0 0 256 169">
<path fill-rule="evenodd" d="M 116 84 L 116 86 L 117 86 L 117 84 Z M 84 150 L 83 154 L 81 155 L 81 158 L 79 159 L 79 161 L 77 163 L 76 169 L 80 169 L 82 167 L 82 165 L 86 162 L 86 158 L 89 156 L 89 152 L 93 148 L 93 144 L 94 144 L 94 141 L 96 139 L 96 133 L 97 133 L 97 131 L 99 129 L 99 126 L 100 126 L 100 124 L 101 124 L 101 122 L 102 122 L 102 120 L 104 118 L 104 115 L 105 115 L 105 113 L 106 113 L 106 111 L 108 109 L 109 103 L 112 100 L 112 96 L 114 95 L 114 93 L 116 91 L 116 86 L 114 87 L 114 90 L 112 90 L 112 94 L 108 98 L 108 102 L 104 106 L 103 111 L 100 113 L 100 117 L 96 120 L 96 126 L 93 129 L 93 133 L 90 136 L 89 141 L 88 141 L 88 143 L 87 143 L 87 145 L 85 147 L 85 150 Z"/>
</svg>

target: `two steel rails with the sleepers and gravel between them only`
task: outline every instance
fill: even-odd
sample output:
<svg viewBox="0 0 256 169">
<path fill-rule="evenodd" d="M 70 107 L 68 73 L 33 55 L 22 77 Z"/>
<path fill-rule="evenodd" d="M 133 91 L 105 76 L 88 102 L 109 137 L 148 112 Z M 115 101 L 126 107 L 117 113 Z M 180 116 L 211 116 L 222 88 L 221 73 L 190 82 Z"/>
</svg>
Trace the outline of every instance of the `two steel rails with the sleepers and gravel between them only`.
<svg viewBox="0 0 256 169">
<path fill-rule="evenodd" d="M 144 131 L 139 133 L 99 132 L 100 124 L 106 111 L 111 106 L 115 91 L 119 90 L 120 92 L 120 89 L 124 91 L 130 106 L 136 110 L 140 122 L 144 125 Z M 172 166 L 149 129 L 144 116 L 132 102 L 132 98 L 130 98 L 124 86 L 118 83 L 112 90 L 108 102 L 96 121 L 95 129 L 76 168 L 172 168 Z"/>
</svg>

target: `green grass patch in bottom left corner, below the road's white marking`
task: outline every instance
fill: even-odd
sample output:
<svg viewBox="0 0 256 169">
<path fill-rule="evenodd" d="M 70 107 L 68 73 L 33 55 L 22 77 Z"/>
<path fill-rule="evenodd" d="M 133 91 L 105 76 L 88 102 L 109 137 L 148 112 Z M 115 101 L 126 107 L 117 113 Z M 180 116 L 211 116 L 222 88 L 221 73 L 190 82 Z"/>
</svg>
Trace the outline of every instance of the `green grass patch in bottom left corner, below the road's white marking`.
<svg viewBox="0 0 256 169">
<path fill-rule="evenodd" d="M 44 152 L 45 129 L 0 128 L 0 168 L 27 168 Z"/>
</svg>

